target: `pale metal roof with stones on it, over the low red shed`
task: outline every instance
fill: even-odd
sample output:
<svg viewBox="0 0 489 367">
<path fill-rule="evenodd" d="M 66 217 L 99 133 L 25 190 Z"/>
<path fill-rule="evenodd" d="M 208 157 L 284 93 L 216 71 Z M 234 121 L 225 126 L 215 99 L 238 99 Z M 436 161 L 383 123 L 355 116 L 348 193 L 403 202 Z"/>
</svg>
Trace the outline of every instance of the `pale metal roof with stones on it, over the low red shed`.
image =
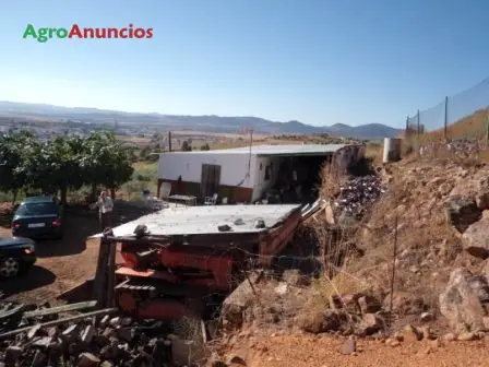
<svg viewBox="0 0 489 367">
<path fill-rule="evenodd" d="M 288 205 L 204 205 L 175 206 L 144 215 L 114 228 L 115 236 L 131 236 L 139 224 L 144 224 L 153 235 L 218 234 L 217 226 L 227 224 L 232 233 L 258 233 L 273 227 L 287 217 L 298 204 Z M 242 224 L 235 221 L 241 218 Z M 266 228 L 255 228 L 255 221 L 263 220 Z M 94 236 L 100 237 L 100 234 Z"/>
</svg>

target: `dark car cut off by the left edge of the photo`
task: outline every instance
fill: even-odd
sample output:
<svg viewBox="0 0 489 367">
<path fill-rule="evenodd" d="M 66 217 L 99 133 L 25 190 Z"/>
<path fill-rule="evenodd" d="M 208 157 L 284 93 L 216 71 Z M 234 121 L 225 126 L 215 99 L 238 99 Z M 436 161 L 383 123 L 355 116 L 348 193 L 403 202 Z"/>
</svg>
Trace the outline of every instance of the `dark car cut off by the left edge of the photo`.
<svg viewBox="0 0 489 367">
<path fill-rule="evenodd" d="M 34 241 L 22 237 L 0 237 L 0 277 L 28 270 L 36 262 Z"/>
</svg>

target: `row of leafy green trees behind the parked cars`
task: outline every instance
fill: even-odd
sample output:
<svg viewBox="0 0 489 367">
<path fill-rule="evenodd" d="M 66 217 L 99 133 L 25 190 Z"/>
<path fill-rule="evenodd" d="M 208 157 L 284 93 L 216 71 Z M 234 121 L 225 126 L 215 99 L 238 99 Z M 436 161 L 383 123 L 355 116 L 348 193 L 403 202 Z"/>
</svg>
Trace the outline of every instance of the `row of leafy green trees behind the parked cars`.
<svg viewBox="0 0 489 367">
<path fill-rule="evenodd" d="M 134 171 L 133 152 L 110 131 L 87 137 L 64 135 L 39 140 L 31 131 L 0 137 L 0 191 L 15 202 L 22 190 L 59 194 L 67 202 L 69 190 L 83 186 L 112 191 L 129 181 Z"/>
</svg>

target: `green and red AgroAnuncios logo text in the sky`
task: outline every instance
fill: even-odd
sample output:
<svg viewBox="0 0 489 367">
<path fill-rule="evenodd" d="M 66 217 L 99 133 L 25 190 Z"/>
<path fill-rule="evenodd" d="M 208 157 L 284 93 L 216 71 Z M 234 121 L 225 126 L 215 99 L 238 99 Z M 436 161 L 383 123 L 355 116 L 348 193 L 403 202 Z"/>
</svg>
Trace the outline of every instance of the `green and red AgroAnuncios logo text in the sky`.
<svg viewBox="0 0 489 367">
<path fill-rule="evenodd" d="M 107 39 L 107 38 L 152 38 L 153 28 L 134 28 L 132 24 L 122 28 L 84 28 L 73 24 L 70 28 L 35 28 L 27 24 L 23 38 L 46 43 L 51 38 Z"/>
</svg>

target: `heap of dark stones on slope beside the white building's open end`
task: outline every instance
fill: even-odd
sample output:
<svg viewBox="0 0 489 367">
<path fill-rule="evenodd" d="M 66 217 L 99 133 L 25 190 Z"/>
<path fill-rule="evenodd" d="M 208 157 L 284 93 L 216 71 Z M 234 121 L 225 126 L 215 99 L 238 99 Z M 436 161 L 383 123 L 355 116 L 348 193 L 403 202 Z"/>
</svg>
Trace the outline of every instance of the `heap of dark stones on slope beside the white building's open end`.
<svg viewBox="0 0 489 367">
<path fill-rule="evenodd" d="M 383 192 L 384 188 L 378 176 L 354 177 L 339 188 L 334 206 L 339 214 L 360 220 L 367 208 L 374 203 Z"/>
</svg>

